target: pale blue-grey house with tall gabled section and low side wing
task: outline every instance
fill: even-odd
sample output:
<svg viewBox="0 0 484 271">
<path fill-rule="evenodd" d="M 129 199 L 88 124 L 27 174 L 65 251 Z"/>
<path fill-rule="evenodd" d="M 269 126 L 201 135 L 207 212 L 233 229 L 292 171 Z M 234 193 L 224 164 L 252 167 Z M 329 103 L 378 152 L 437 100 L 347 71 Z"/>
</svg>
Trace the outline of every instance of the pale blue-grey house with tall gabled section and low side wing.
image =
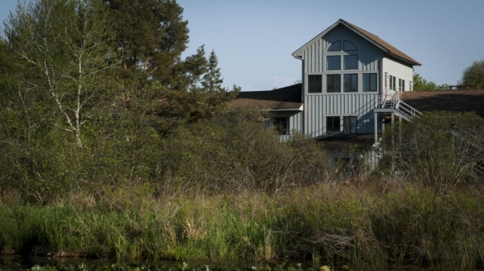
<svg viewBox="0 0 484 271">
<path fill-rule="evenodd" d="M 329 148 L 347 143 L 369 148 L 385 122 L 420 114 L 416 107 L 422 105 L 416 101 L 423 92 L 408 94 L 417 93 L 412 92 L 413 66 L 421 64 L 371 32 L 339 19 L 292 56 L 301 60 L 302 83 L 241 92 L 234 101 L 270 110 L 282 141 L 295 131 L 324 141 Z M 476 95 L 482 101 L 484 92 L 479 91 Z M 469 97 L 462 91 L 454 94 Z M 436 101 L 427 100 L 430 108 Z"/>
</svg>

